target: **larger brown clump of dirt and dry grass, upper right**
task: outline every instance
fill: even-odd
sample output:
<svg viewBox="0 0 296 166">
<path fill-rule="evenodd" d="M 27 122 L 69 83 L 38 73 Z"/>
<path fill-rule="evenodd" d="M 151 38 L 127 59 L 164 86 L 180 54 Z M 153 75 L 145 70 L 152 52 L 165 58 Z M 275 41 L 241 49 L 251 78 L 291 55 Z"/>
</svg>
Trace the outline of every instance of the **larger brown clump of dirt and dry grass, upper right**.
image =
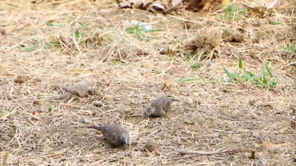
<svg viewBox="0 0 296 166">
<path fill-rule="evenodd" d="M 210 53 L 212 50 L 219 47 L 220 37 L 218 31 L 206 32 L 201 31 L 198 35 L 186 39 L 183 42 L 186 50 L 196 51 L 197 49 L 204 49 L 205 54 Z"/>
</svg>

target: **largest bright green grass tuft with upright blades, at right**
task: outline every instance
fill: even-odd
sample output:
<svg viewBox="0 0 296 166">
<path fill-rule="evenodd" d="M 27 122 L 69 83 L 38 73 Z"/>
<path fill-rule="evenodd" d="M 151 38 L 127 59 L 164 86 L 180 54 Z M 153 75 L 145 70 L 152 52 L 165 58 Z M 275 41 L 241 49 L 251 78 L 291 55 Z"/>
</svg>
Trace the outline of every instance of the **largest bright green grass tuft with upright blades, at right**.
<svg viewBox="0 0 296 166">
<path fill-rule="evenodd" d="M 239 74 L 230 73 L 225 67 L 223 67 L 227 76 L 234 82 L 238 83 L 238 80 L 242 83 L 249 83 L 251 86 L 256 86 L 263 89 L 274 89 L 278 84 L 275 81 L 274 75 L 271 69 L 266 63 L 262 63 L 261 66 L 261 77 L 257 76 L 256 73 L 252 73 L 242 68 L 241 57 L 239 59 Z"/>
</svg>

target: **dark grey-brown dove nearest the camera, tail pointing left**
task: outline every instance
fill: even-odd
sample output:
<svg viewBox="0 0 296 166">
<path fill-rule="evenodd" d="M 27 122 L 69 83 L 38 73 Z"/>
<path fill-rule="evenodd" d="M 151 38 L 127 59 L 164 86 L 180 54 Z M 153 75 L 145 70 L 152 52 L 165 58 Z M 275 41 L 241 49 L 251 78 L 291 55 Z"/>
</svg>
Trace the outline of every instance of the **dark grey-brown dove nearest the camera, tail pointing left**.
<svg viewBox="0 0 296 166">
<path fill-rule="evenodd" d="M 116 126 L 113 124 L 105 124 L 98 126 L 89 126 L 88 128 L 99 130 L 103 133 L 107 141 L 113 147 L 120 147 L 129 142 L 129 133 L 120 126 Z"/>
</svg>

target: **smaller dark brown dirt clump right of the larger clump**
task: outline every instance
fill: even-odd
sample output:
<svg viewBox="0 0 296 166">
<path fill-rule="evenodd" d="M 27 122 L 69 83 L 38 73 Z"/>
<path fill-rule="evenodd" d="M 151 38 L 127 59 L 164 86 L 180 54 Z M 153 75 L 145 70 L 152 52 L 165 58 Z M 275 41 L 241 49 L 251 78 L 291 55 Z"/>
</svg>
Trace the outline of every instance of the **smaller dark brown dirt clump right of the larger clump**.
<svg viewBox="0 0 296 166">
<path fill-rule="evenodd" d="M 243 41 L 243 34 L 240 31 L 225 29 L 222 32 L 222 39 L 225 42 L 241 43 Z"/>
</svg>

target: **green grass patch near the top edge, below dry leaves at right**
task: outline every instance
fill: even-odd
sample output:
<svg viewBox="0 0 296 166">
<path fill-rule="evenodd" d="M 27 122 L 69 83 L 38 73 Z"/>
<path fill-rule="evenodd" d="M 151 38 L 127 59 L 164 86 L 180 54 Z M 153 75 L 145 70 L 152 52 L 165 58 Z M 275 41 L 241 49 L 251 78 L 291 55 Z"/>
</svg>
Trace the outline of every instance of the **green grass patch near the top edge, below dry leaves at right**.
<svg viewBox="0 0 296 166">
<path fill-rule="evenodd" d="M 239 19 L 247 11 L 248 10 L 241 5 L 233 3 L 226 8 L 223 17 L 236 20 Z"/>
</svg>

